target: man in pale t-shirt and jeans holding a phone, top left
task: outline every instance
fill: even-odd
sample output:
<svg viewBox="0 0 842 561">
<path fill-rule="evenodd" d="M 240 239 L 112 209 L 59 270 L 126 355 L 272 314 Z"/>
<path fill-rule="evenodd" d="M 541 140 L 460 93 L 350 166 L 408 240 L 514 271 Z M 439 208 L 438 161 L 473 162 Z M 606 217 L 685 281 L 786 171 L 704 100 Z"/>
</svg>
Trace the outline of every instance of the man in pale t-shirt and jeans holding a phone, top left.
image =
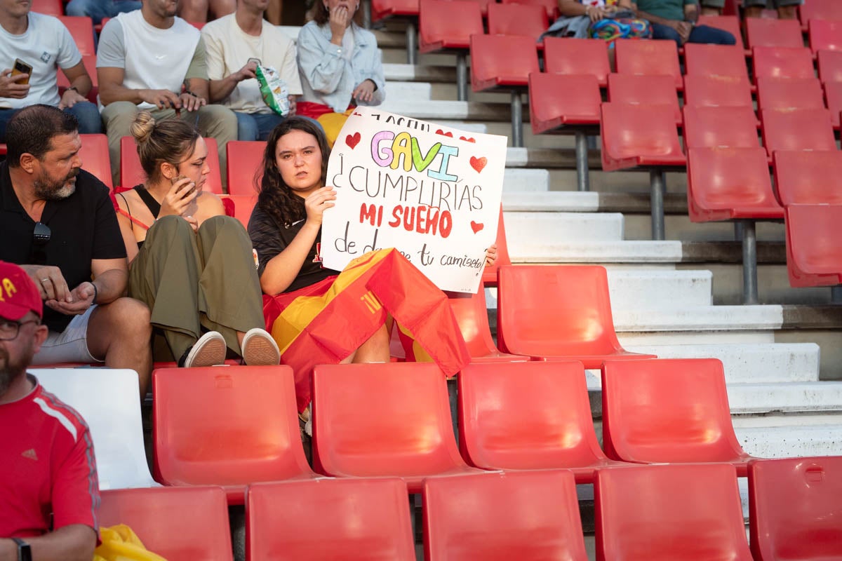
<svg viewBox="0 0 842 561">
<path fill-rule="evenodd" d="M 0 142 L 6 141 L 6 124 L 18 109 L 38 103 L 72 113 L 80 133 L 102 132 L 99 110 L 85 98 L 91 77 L 70 31 L 58 19 L 29 9 L 30 3 L 0 0 Z M 12 76 L 17 59 L 32 66 L 31 74 Z M 70 82 L 61 95 L 59 68 Z"/>
</svg>

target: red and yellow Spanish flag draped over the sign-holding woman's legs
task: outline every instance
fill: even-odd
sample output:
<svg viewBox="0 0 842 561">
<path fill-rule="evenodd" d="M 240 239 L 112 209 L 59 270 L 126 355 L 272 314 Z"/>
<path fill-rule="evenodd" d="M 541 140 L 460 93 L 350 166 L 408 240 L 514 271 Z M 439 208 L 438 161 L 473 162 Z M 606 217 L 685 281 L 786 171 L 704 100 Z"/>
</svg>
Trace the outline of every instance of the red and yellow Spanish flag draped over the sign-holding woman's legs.
<svg viewBox="0 0 842 561">
<path fill-rule="evenodd" d="M 310 403 L 313 368 L 348 357 L 387 315 L 407 357 L 431 360 L 448 377 L 470 362 L 447 296 L 394 249 L 366 253 L 338 276 L 295 292 L 264 294 L 266 330 L 278 342 L 280 362 L 295 371 L 298 410 Z"/>
</svg>

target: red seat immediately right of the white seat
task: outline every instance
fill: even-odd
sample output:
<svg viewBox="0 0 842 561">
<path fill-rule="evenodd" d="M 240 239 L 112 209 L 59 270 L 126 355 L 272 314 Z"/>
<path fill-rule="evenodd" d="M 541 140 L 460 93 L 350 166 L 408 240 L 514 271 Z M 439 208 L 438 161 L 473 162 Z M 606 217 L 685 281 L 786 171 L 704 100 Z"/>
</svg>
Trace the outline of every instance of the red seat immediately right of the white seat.
<svg viewBox="0 0 842 561">
<path fill-rule="evenodd" d="M 288 366 L 163 368 L 152 373 L 154 476 L 218 484 L 242 505 L 246 485 L 312 479 Z"/>
</svg>

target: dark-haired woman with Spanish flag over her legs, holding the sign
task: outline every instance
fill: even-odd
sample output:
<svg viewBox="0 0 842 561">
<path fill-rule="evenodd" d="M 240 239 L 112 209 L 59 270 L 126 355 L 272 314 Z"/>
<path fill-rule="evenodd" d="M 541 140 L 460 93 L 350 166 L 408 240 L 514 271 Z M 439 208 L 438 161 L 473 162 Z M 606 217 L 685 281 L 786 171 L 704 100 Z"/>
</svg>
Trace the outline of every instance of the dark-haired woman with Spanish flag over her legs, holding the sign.
<svg viewBox="0 0 842 561">
<path fill-rule="evenodd" d="M 370 251 L 342 273 L 322 267 L 322 215 L 337 197 L 324 184 L 328 155 L 325 135 L 312 121 L 291 117 L 275 127 L 248 222 L 266 328 L 281 363 L 296 373 L 300 411 L 310 403 L 317 364 L 390 360 L 392 318 L 408 357 L 424 355 L 447 376 L 469 361 L 447 297 L 396 250 Z"/>
</svg>

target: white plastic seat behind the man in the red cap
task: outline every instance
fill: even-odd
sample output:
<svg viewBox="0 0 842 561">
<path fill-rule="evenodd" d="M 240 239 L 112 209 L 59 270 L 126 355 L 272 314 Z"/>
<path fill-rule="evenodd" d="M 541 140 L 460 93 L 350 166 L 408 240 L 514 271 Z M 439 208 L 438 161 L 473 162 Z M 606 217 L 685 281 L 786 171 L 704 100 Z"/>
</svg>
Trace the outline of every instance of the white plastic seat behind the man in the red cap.
<svg viewBox="0 0 842 561">
<path fill-rule="evenodd" d="M 116 368 L 29 369 L 88 422 L 97 454 L 99 489 L 157 485 L 143 447 L 137 373 Z"/>
</svg>

